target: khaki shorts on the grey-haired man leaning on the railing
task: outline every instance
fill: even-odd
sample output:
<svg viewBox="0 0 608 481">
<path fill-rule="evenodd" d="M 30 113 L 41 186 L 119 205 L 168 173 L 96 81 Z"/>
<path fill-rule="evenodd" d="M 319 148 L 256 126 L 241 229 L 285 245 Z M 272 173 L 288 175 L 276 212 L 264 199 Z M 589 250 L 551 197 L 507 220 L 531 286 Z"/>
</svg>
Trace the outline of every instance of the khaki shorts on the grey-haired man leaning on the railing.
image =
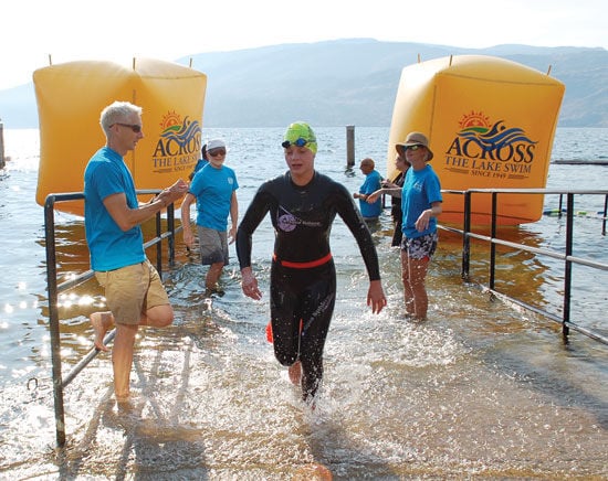
<svg viewBox="0 0 608 481">
<path fill-rule="evenodd" d="M 118 324 L 139 324 L 141 313 L 169 303 L 160 276 L 148 259 L 107 272 L 95 272 Z"/>
</svg>

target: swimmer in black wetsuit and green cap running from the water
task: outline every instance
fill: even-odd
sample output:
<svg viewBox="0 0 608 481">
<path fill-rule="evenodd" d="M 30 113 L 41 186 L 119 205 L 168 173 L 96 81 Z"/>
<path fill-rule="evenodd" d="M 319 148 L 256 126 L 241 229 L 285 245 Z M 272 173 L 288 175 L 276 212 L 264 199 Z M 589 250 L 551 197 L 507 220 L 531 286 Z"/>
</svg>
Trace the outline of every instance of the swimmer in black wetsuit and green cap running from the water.
<svg viewBox="0 0 608 481">
<path fill-rule="evenodd" d="M 361 252 L 369 275 L 367 304 L 386 306 L 371 235 L 346 188 L 314 170 L 316 137 L 303 122 L 292 124 L 282 143 L 289 172 L 258 190 L 237 232 L 237 254 L 245 296 L 261 299 L 251 269 L 251 237 L 270 211 L 275 231 L 271 268 L 271 323 L 274 354 L 290 366 L 312 402 L 323 377 L 323 348 L 334 311 L 336 271 L 329 232 L 338 214 Z"/>
</svg>

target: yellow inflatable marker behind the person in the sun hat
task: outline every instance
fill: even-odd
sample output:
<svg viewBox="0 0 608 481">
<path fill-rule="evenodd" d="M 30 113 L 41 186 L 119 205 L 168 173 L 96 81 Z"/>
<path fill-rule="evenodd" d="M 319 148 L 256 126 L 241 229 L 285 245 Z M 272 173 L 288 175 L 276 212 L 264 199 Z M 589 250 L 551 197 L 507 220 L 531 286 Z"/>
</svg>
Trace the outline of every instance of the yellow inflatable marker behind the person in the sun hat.
<svg viewBox="0 0 608 481">
<path fill-rule="evenodd" d="M 544 189 L 565 86 L 533 68 L 482 55 L 443 57 L 401 72 L 387 152 L 408 132 L 429 137 L 444 190 Z M 472 222 L 491 221 L 490 194 L 473 194 Z M 500 194 L 499 223 L 535 222 L 542 195 Z M 462 223 L 463 196 L 443 195 L 442 222 Z"/>
</svg>

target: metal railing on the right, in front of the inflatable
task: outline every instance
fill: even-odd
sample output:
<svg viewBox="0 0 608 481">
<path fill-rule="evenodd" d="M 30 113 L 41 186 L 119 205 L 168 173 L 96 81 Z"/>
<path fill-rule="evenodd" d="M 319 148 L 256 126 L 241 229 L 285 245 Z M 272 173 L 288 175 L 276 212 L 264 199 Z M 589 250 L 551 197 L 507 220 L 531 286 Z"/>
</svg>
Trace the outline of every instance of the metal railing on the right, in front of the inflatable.
<svg viewBox="0 0 608 481">
<path fill-rule="evenodd" d="M 606 235 L 606 214 L 608 210 L 608 191 L 599 190 L 572 190 L 572 191 L 559 191 L 559 190 L 547 190 L 547 189 L 470 189 L 467 191 L 454 191 L 454 190 L 443 190 L 445 194 L 458 194 L 464 196 L 464 220 L 463 228 L 458 229 L 451 226 L 440 225 L 439 227 L 444 231 L 450 231 L 462 235 L 462 270 L 461 276 L 464 280 L 470 279 L 470 265 L 471 265 L 471 239 L 478 239 L 482 242 L 490 243 L 490 272 L 489 272 L 489 285 L 488 290 L 493 295 L 499 295 L 504 298 L 507 298 L 511 302 L 518 304 L 525 309 L 528 309 L 533 312 L 542 314 L 555 322 L 562 324 L 562 334 L 565 342 L 569 334 L 569 330 L 577 331 L 584 335 L 587 335 L 596 341 L 599 341 L 608 345 L 608 338 L 602 335 L 599 332 L 587 329 L 583 325 L 575 323 L 570 319 L 570 300 L 572 300 L 572 271 L 573 265 L 583 265 L 594 269 L 608 270 L 608 264 L 595 261 L 593 259 L 585 259 L 580 257 L 573 256 L 573 244 L 574 244 L 574 196 L 575 195 L 604 195 L 604 215 L 602 217 L 602 227 L 601 234 Z M 491 222 L 491 234 L 490 236 L 476 234 L 472 232 L 471 228 L 471 205 L 472 196 L 475 194 L 491 194 L 492 195 L 492 222 Z M 563 212 L 563 196 L 566 196 L 566 239 L 565 239 L 565 252 L 560 253 L 557 250 L 531 247 L 525 244 L 513 243 L 510 240 L 501 239 L 496 237 L 496 225 L 497 225 L 497 197 L 499 194 L 525 194 L 525 195 L 546 195 L 546 194 L 559 194 L 559 210 L 558 215 L 562 215 Z M 521 249 L 535 255 L 548 256 L 555 259 L 564 261 L 564 296 L 563 296 L 563 309 L 562 317 L 544 310 L 539 307 L 532 306 L 527 302 L 524 302 L 521 299 L 516 299 L 505 292 L 499 292 L 495 286 L 495 267 L 496 267 L 496 246 L 502 245 L 511 248 Z M 608 308 L 608 306 L 607 306 Z"/>
</svg>

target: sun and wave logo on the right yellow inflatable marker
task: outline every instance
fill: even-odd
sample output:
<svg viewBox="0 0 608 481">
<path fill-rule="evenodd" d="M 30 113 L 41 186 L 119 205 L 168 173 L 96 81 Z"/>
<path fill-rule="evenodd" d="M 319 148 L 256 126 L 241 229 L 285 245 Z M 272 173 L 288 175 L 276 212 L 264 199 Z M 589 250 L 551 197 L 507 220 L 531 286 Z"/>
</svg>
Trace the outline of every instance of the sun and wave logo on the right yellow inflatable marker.
<svg viewBox="0 0 608 481">
<path fill-rule="evenodd" d="M 492 122 L 472 110 L 459 121 L 460 131 L 445 151 L 449 170 L 485 177 L 523 179 L 532 172 L 537 141 L 524 129 Z"/>
</svg>

